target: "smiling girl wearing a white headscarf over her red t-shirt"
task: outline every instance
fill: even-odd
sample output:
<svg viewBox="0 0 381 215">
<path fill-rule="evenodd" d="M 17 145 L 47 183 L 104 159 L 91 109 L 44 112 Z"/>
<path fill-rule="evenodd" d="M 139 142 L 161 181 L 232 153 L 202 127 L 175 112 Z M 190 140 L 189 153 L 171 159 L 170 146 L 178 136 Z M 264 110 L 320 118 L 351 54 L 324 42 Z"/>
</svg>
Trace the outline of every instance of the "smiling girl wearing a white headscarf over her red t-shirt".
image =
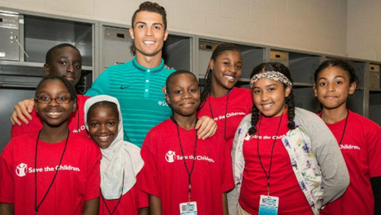
<svg viewBox="0 0 381 215">
<path fill-rule="evenodd" d="M 148 214 L 148 195 L 140 190 L 140 148 L 123 141 L 119 102 L 95 96 L 84 105 L 86 128 L 102 151 L 99 214 Z"/>
</svg>

